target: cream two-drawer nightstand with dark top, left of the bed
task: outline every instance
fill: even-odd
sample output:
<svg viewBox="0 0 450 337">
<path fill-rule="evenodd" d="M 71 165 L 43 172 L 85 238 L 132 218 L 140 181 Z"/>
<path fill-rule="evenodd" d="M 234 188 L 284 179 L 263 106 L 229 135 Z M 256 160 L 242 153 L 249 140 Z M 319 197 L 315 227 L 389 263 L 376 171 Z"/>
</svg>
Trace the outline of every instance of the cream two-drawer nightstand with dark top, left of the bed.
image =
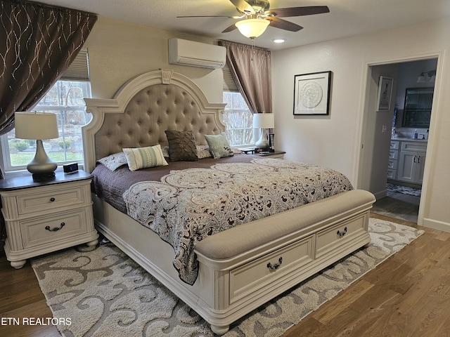
<svg viewBox="0 0 450 337">
<path fill-rule="evenodd" d="M 0 180 L 6 225 L 5 253 L 19 269 L 27 258 L 87 243 L 95 246 L 92 176 L 84 171 L 57 172 L 46 182 L 31 174 Z"/>
</svg>

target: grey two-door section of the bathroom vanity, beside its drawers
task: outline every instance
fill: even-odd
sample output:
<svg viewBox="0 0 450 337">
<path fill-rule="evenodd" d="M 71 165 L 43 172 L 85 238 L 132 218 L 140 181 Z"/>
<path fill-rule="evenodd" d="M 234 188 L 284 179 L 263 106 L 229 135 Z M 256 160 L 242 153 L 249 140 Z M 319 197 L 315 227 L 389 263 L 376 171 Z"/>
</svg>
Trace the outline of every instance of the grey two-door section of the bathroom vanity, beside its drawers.
<svg viewBox="0 0 450 337">
<path fill-rule="evenodd" d="M 421 185 L 425 169 L 426 142 L 401 142 L 397 180 Z"/>
</svg>

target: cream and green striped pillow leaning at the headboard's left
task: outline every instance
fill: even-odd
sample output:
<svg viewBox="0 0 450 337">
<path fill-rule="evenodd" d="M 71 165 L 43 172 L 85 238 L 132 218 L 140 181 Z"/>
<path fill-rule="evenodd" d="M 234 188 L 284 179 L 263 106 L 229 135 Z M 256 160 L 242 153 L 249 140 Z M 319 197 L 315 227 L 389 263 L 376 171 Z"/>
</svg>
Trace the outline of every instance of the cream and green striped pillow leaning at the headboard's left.
<svg viewBox="0 0 450 337">
<path fill-rule="evenodd" d="M 162 155 L 161 145 L 122 149 L 127 157 L 130 171 L 146 169 L 148 167 L 165 166 L 166 159 Z"/>
</svg>

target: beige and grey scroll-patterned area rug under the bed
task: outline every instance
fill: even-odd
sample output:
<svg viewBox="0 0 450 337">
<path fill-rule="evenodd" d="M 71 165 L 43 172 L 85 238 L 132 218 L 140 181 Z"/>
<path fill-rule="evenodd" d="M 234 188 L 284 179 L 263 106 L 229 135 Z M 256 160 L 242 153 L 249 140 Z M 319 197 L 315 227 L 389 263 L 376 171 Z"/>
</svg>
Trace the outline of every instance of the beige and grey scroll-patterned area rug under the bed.
<svg viewBox="0 0 450 337">
<path fill-rule="evenodd" d="M 371 244 L 310 277 L 231 325 L 224 336 L 281 336 L 423 233 L 370 219 Z M 214 336 L 193 310 L 113 244 L 32 260 L 47 304 L 65 336 Z"/>
</svg>

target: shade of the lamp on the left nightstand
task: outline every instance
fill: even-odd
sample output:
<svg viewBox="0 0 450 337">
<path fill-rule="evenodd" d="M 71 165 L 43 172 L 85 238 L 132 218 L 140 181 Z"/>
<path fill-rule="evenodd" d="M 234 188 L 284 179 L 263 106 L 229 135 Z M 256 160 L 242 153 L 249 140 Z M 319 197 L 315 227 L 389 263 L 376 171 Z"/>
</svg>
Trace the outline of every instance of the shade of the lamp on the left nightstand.
<svg viewBox="0 0 450 337">
<path fill-rule="evenodd" d="M 15 138 L 52 139 L 58 138 L 56 114 L 44 112 L 15 112 Z"/>
</svg>

